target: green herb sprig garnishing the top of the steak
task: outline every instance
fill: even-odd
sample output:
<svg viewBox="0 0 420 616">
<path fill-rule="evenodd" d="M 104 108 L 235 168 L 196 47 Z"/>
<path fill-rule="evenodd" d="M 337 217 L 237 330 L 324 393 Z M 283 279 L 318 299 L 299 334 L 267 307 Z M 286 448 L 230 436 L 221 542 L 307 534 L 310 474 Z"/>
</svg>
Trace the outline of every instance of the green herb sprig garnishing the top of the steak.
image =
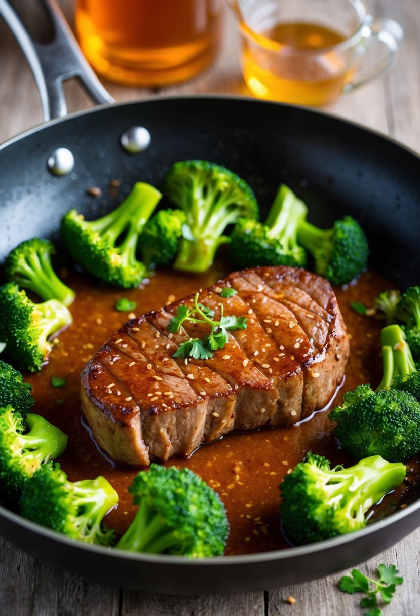
<svg viewBox="0 0 420 616">
<path fill-rule="evenodd" d="M 171 318 L 168 330 L 176 333 L 186 321 L 209 325 L 211 330 L 203 338 L 193 338 L 182 342 L 172 357 L 193 357 L 194 359 L 210 359 L 217 349 L 223 349 L 228 341 L 228 331 L 246 329 L 246 317 L 224 315 L 224 306 L 220 306 L 220 320 L 215 321 L 214 310 L 198 302 L 198 293 L 194 296 L 194 307 L 185 304 L 177 307 L 177 314 Z"/>
</svg>

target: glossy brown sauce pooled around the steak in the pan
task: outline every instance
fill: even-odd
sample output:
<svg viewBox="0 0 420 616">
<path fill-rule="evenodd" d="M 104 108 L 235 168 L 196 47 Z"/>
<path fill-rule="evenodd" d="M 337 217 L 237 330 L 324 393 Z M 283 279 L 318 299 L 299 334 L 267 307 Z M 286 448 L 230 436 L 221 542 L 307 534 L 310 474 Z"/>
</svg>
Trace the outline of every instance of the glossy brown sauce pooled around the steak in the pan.
<svg viewBox="0 0 420 616">
<path fill-rule="evenodd" d="M 226 273 L 227 269 L 220 266 L 199 277 L 160 270 L 143 288 L 129 291 L 101 286 L 78 272 L 70 272 L 65 277 L 65 282 L 76 291 L 76 301 L 70 308 L 74 323 L 60 334 L 59 343 L 54 346 L 49 363 L 41 373 L 27 376 L 36 400 L 33 412 L 43 415 L 68 434 L 68 447 L 59 461 L 70 480 L 94 478 L 100 474 L 116 489 L 118 507 L 108 514 L 107 524 L 117 535 L 127 529 L 135 514 L 127 488 L 139 468 L 116 467 L 97 449 L 82 418 L 79 374 L 108 336 L 128 320 L 127 313 L 115 310 L 117 299 L 126 297 L 136 301 L 134 312 L 140 315 L 209 286 Z M 376 386 L 379 383 L 382 366 L 379 331 L 383 323 L 353 312 L 349 302 L 363 301 L 370 305 L 387 288 L 392 285 L 385 278 L 366 272 L 357 284 L 335 289 L 350 336 L 351 351 L 345 383 L 337 391 L 334 403 L 340 403 L 343 393 L 357 384 Z M 52 387 L 52 376 L 65 377 L 65 387 Z M 281 533 L 278 490 L 285 474 L 308 450 L 327 456 L 333 464 L 352 463 L 339 449 L 332 428 L 328 411 L 318 411 L 312 418 L 289 428 L 229 434 L 201 446 L 188 460 L 172 459 L 166 466 L 187 466 L 220 494 L 231 525 L 226 554 L 286 548 L 288 543 Z M 405 506 L 414 498 L 418 466 L 417 458 L 410 461 L 408 480 L 376 506 L 373 519 Z"/>
</svg>

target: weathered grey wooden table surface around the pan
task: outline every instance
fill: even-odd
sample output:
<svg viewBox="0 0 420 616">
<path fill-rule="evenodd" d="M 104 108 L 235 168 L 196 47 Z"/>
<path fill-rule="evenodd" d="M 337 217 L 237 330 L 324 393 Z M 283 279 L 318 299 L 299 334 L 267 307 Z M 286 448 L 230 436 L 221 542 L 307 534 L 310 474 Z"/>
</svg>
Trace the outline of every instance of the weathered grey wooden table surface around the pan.
<svg viewBox="0 0 420 616">
<path fill-rule="evenodd" d="M 31 3 L 25 0 L 25 10 L 28 4 Z M 60 4 L 71 22 L 73 3 L 62 0 Z M 369 0 L 369 4 L 374 14 L 395 18 L 403 26 L 405 40 L 397 67 L 386 78 L 343 96 L 329 111 L 389 134 L 419 151 L 420 2 Z M 232 15 L 228 15 L 226 29 L 224 49 L 211 70 L 193 81 L 158 93 L 247 95 L 237 60 L 238 45 Z M 41 111 L 30 70 L 3 23 L 0 23 L 0 58 L 0 142 L 3 142 L 40 123 Z M 112 83 L 105 83 L 105 86 L 116 100 L 140 99 L 151 93 Z M 70 110 L 91 106 L 76 84 L 68 83 L 65 91 Z M 341 577 L 339 573 L 323 580 L 265 593 L 177 598 L 152 596 L 89 582 L 26 555 L 6 540 L 0 540 L 0 550 L 0 614 L 7 616 L 361 616 L 366 611 L 358 607 L 357 596 L 349 596 L 337 589 Z M 391 606 L 385 607 L 384 616 L 420 614 L 419 551 L 420 529 L 394 548 L 360 565 L 360 569 L 369 575 L 381 562 L 394 563 L 405 578 Z M 293 606 L 286 601 L 290 595 L 296 599 Z"/>
</svg>

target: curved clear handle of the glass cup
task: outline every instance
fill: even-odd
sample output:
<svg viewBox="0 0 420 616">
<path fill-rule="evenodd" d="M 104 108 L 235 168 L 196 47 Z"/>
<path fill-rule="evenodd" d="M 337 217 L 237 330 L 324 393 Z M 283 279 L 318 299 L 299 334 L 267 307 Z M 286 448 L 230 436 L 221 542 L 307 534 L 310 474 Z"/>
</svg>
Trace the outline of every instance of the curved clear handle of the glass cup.
<svg viewBox="0 0 420 616">
<path fill-rule="evenodd" d="M 379 17 L 374 20 L 373 17 L 369 15 L 363 27 L 362 36 L 363 39 L 365 39 L 365 44 L 370 41 L 378 41 L 386 45 L 388 51 L 387 56 L 373 68 L 363 71 L 357 76 L 355 81 L 349 81 L 349 83 L 345 84 L 342 90 L 343 92 L 352 92 L 357 87 L 363 86 L 372 79 L 387 73 L 394 65 L 398 52 L 398 43 L 403 39 L 404 33 L 400 24 L 393 19 Z M 363 49 L 362 53 L 365 51 L 366 49 Z"/>
</svg>

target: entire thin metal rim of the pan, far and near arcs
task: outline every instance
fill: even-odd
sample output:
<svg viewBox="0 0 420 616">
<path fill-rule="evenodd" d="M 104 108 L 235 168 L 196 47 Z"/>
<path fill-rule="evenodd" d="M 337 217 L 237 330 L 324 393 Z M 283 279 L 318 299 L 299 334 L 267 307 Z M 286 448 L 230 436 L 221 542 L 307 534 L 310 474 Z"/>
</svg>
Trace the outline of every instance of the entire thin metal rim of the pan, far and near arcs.
<svg viewBox="0 0 420 616">
<path fill-rule="evenodd" d="M 388 136 L 385 133 L 380 131 L 376 131 L 369 127 L 363 126 L 363 124 L 359 124 L 352 120 L 347 120 L 345 118 L 341 118 L 340 116 L 334 115 L 330 111 L 314 109 L 310 107 L 305 107 L 303 105 L 290 105 L 286 103 L 278 103 L 266 100 L 254 99 L 252 97 L 244 97 L 241 95 L 225 95 L 225 94 L 188 94 L 188 95 L 151 95 L 149 97 L 145 97 L 144 99 L 137 99 L 131 101 L 124 101 L 118 103 L 110 103 L 106 105 L 100 105 L 97 107 L 88 108 L 85 110 L 79 110 L 71 113 L 70 115 L 63 116 L 62 118 L 56 118 L 55 120 L 50 120 L 47 123 L 41 123 L 33 128 L 28 129 L 25 132 L 18 134 L 17 136 L 12 137 L 11 139 L 4 142 L 4 144 L 0 144 L 0 153 L 2 150 L 5 150 L 9 145 L 15 144 L 20 140 L 25 139 L 25 137 L 30 137 L 39 131 L 42 131 L 44 128 L 49 128 L 50 126 L 55 126 L 67 120 L 72 120 L 78 118 L 79 116 L 86 116 L 91 113 L 97 113 L 102 110 L 107 110 L 111 107 L 128 107 L 131 105 L 138 105 L 139 103 L 148 103 L 148 102 L 157 102 L 157 101 L 180 101 L 180 100 L 220 100 L 220 101 L 232 101 L 232 102 L 246 102 L 246 103 L 259 103 L 265 105 L 275 105 L 276 107 L 282 108 L 291 108 L 297 111 L 309 111 L 311 114 L 320 115 L 330 120 L 337 121 L 338 123 L 348 124 L 350 126 L 354 126 L 355 128 L 361 129 L 364 132 L 370 132 L 376 137 L 381 139 L 385 139 L 388 142 L 391 142 L 397 147 L 402 148 L 406 152 L 414 155 L 415 158 L 420 160 L 420 153 L 416 152 L 412 148 L 402 144 L 397 139 Z M 205 557 L 202 559 L 187 559 L 182 556 L 171 556 L 169 554 L 143 554 L 143 553 L 134 553 L 129 551 L 124 551 L 118 548 L 105 548 L 104 546 L 99 545 L 90 545 L 83 543 L 81 541 L 71 540 L 65 535 L 60 535 L 60 533 L 54 532 L 53 530 L 46 529 L 34 522 L 30 522 L 26 520 L 24 517 L 20 516 L 9 509 L 6 509 L 0 505 L 0 521 L 6 519 L 12 524 L 18 525 L 22 529 L 26 529 L 29 532 L 36 533 L 38 537 L 43 537 L 46 540 L 54 541 L 57 544 L 63 544 L 71 548 L 78 548 L 86 551 L 86 553 L 96 554 L 97 556 L 101 556 L 103 558 L 117 558 L 124 561 L 134 561 L 134 562 L 149 562 L 155 564 L 175 564 L 175 565 L 184 565 L 184 566 L 194 566 L 197 565 L 201 567 L 206 567 L 209 565 L 217 565 L 217 566 L 229 566 L 229 565 L 246 565 L 246 564 L 256 564 L 256 563 L 264 563 L 264 562 L 272 562 L 272 561 L 286 561 L 288 559 L 293 559 L 302 556 L 309 556 L 309 554 L 313 553 L 321 553 L 322 551 L 329 549 L 338 549 L 339 546 L 345 546 L 348 543 L 352 543 L 354 540 L 359 538 L 363 540 L 363 538 L 372 535 L 373 533 L 379 532 L 381 529 L 385 529 L 390 525 L 401 523 L 403 519 L 412 516 L 416 511 L 420 509 L 420 498 L 418 501 L 411 503 L 407 508 L 400 509 L 395 513 L 390 514 L 390 516 L 385 519 L 379 520 L 372 525 L 369 525 L 365 529 L 358 530 L 355 533 L 348 533 L 347 535 L 340 535 L 339 537 L 334 537 L 328 540 L 318 541 L 317 543 L 311 543 L 304 546 L 293 546 L 287 549 L 278 549 L 273 551 L 265 551 L 256 554 L 240 554 L 235 556 L 215 556 L 215 557 Z M 0 524 L 0 533 L 2 533 L 1 524 Z M 4 536 L 4 535 L 3 535 Z M 6 537 L 7 538 L 7 537 Z"/>
</svg>

